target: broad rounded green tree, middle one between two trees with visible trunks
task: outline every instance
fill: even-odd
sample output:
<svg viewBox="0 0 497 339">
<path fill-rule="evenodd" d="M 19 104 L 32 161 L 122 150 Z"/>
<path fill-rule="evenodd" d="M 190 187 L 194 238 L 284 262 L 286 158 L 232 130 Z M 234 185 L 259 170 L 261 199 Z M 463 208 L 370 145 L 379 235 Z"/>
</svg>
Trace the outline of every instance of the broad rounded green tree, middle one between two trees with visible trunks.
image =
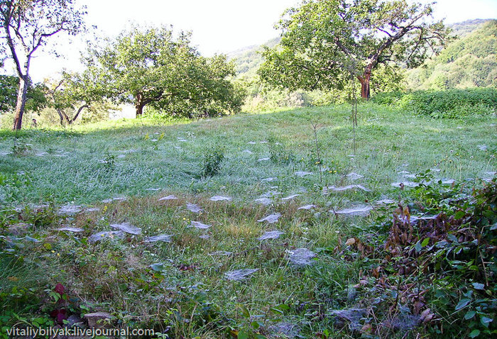
<svg viewBox="0 0 497 339">
<path fill-rule="evenodd" d="M 171 28 L 131 28 L 101 48 L 91 48 L 87 72 L 107 98 L 133 104 L 136 116 L 146 105 L 191 116 L 192 111 L 239 111 L 242 99 L 229 77 L 226 57 L 207 59 L 190 45 L 190 34 L 175 38 Z"/>
</svg>

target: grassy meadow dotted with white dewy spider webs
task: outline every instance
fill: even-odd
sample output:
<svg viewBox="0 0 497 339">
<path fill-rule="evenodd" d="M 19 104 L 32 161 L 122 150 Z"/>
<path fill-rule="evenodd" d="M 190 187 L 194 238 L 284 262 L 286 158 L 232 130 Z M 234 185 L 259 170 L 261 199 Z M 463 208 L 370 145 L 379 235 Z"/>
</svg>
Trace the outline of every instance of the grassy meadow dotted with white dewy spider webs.
<svg viewBox="0 0 497 339">
<path fill-rule="evenodd" d="M 354 152 L 350 112 L 0 130 L 0 328 L 42 326 L 64 309 L 109 312 L 114 326 L 150 327 L 163 338 L 467 335 L 468 326 L 448 325 L 454 309 L 443 306 L 461 300 L 457 291 L 444 301 L 419 274 L 380 288 L 381 277 L 366 272 L 382 258 L 358 244 L 380 248 L 398 204 L 429 212 L 416 204 L 424 186 L 409 187 L 420 177 L 459 193 L 483 187 L 497 168 L 495 116 L 432 119 L 361 104 Z M 168 195 L 178 199 L 159 201 Z M 339 213 L 357 206 L 368 216 Z M 273 213 L 275 223 L 258 221 Z M 141 234 L 90 238 L 125 222 Z M 258 239 L 271 230 L 283 234 Z M 170 241 L 147 241 L 159 234 Z M 314 256 L 299 265 L 290 258 L 300 248 Z M 256 271 L 226 279 L 237 269 Z M 422 306 L 398 296 L 401 284 L 418 297 L 425 290 Z"/>
</svg>

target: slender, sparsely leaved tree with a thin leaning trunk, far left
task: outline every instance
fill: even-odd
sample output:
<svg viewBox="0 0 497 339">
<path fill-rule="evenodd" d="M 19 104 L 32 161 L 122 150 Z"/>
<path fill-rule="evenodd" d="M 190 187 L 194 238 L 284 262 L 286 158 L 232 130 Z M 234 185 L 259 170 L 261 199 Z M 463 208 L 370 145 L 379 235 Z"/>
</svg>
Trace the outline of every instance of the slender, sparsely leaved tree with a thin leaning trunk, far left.
<svg viewBox="0 0 497 339">
<path fill-rule="evenodd" d="M 80 33 L 84 14 L 75 0 L 0 0 L 0 52 L 13 60 L 19 79 L 13 129 L 22 126 L 33 55 L 58 33 Z"/>
</svg>

